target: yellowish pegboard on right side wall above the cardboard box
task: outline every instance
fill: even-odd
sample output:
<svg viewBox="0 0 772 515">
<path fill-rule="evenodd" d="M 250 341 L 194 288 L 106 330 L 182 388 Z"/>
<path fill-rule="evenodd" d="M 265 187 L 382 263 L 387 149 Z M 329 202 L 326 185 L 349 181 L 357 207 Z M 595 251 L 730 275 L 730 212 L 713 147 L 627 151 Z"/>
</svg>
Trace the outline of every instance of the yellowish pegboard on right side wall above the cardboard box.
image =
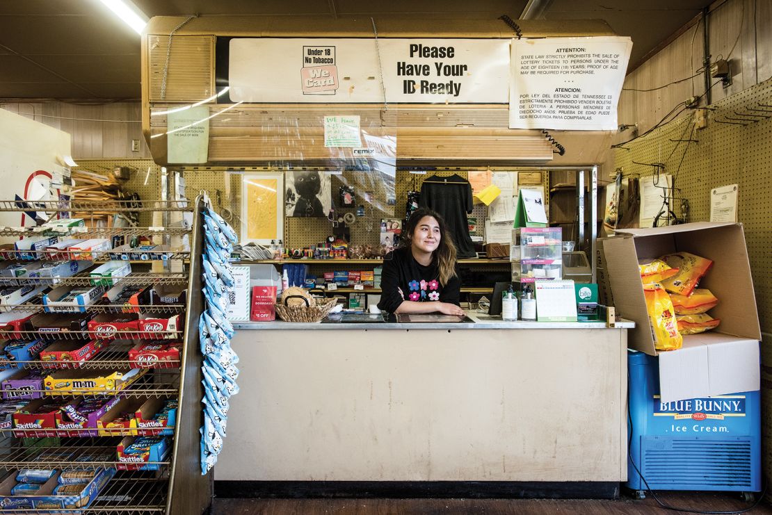
<svg viewBox="0 0 772 515">
<path fill-rule="evenodd" d="M 675 195 L 689 201 L 686 221 L 710 219 L 710 192 L 737 184 L 738 221 L 743 224 L 762 332 L 772 332 L 772 81 L 745 89 L 703 109 L 707 125 L 696 129 L 692 111 L 614 152 L 625 176 L 645 177 L 665 163 Z M 694 140 L 694 141 L 682 141 Z M 614 170 L 615 167 L 608 167 Z M 681 216 L 680 200 L 673 203 Z"/>
</svg>

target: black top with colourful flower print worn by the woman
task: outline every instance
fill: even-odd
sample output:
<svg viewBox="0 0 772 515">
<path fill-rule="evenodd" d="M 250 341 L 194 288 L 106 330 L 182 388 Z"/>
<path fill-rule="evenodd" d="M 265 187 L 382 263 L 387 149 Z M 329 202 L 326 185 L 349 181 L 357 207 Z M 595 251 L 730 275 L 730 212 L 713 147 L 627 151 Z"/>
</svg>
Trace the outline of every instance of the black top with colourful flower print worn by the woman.
<svg viewBox="0 0 772 515">
<path fill-rule="evenodd" d="M 415 261 L 410 247 L 402 247 L 384 256 L 381 290 L 378 308 L 389 313 L 394 313 L 402 301 L 441 301 L 459 305 L 461 280 L 455 276 L 442 286 L 434 261 L 425 267 Z"/>
</svg>

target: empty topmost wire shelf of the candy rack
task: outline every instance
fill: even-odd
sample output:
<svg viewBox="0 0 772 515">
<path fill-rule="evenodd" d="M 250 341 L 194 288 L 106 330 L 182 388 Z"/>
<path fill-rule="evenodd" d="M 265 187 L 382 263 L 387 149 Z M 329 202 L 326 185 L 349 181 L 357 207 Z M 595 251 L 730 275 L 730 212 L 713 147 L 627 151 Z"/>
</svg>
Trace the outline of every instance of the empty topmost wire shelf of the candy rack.
<svg viewBox="0 0 772 515">
<path fill-rule="evenodd" d="M 0 211 L 192 211 L 188 200 L 0 200 Z"/>
</svg>

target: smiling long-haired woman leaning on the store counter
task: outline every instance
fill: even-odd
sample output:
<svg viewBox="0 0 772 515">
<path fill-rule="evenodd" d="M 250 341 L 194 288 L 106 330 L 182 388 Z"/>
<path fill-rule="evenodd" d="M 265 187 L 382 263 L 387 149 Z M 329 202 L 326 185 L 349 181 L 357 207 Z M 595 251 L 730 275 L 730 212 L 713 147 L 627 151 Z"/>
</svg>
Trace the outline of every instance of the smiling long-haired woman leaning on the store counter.
<svg viewBox="0 0 772 515">
<path fill-rule="evenodd" d="M 381 301 L 389 313 L 464 315 L 461 280 L 455 273 L 455 246 L 445 222 L 429 209 L 411 214 L 400 246 L 384 257 Z"/>
</svg>

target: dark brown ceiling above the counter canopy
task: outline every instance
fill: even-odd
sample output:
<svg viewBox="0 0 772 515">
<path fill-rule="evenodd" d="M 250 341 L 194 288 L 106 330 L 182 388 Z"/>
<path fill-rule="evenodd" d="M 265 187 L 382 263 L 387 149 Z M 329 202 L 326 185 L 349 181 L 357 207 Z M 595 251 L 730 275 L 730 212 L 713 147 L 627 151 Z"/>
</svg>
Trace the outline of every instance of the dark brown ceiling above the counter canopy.
<svg viewBox="0 0 772 515">
<path fill-rule="evenodd" d="M 418 15 L 516 19 L 527 0 L 134 0 L 157 15 Z M 709 0 L 554 0 L 546 19 L 604 19 L 632 67 Z M 470 10 L 470 6 L 472 9 Z M 99 0 L 0 0 L 0 99 L 139 99 L 140 36 Z"/>
</svg>

